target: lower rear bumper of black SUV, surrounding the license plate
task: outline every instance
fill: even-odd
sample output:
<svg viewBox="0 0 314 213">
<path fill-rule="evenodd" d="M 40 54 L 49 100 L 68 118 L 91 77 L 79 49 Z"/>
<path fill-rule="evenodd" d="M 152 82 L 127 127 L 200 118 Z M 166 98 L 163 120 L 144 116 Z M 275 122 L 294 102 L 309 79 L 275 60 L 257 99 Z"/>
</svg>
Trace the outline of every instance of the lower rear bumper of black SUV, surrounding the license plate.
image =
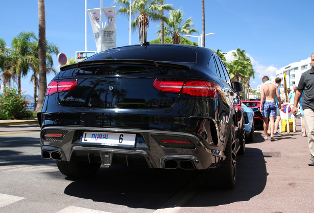
<svg viewBox="0 0 314 213">
<path fill-rule="evenodd" d="M 68 131 L 61 141 L 43 140 L 46 131 Z M 81 135 L 84 131 L 110 131 L 118 133 L 135 133 L 135 147 L 120 147 L 106 145 L 85 145 L 81 144 Z M 164 147 L 152 136 L 183 137 L 194 143 L 194 148 Z M 184 132 L 157 131 L 157 130 L 136 130 L 119 128 L 92 128 L 92 127 L 46 127 L 40 134 L 41 153 L 45 159 L 71 161 L 76 159 L 88 159 L 88 161 L 101 161 L 102 156 L 110 154 L 114 160 L 126 164 L 138 164 L 142 160 L 149 168 L 161 169 L 198 169 L 219 167 L 225 159 L 223 147 L 207 147 L 201 137 Z M 222 149 L 221 149 L 222 148 Z M 220 150 L 219 150 L 220 149 Z M 56 155 L 55 152 L 60 153 Z M 48 154 L 50 153 L 50 155 Z M 52 155 L 51 153 L 54 153 Z"/>
</svg>

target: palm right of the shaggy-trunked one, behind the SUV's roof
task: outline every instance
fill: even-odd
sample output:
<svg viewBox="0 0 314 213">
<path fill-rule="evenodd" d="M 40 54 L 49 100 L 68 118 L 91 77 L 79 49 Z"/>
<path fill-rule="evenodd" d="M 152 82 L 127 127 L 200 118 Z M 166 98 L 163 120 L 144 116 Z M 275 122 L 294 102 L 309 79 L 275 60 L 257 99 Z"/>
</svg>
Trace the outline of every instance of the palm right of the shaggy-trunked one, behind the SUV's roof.
<svg viewBox="0 0 314 213">
<path fill-rule="evenodd" d="M 164 27 L 164 35 L 172 35 L 171 40 L 174 44 L 181 43 L 180 34 L 191 35 L 192 33 L 198 33 L 196 29 L 192 29 L 194 26 L 192 18 L 188 18 L 183 23 L 184 13 L 181 9 L 171 10 L 169 12 L 170 17 L 165 20 L 166 27 Z M 161 27 L 158 25 L 158 27 Z M 158 36 L 160 36 L 161 30 L 157 31 Z"/>
</svg>

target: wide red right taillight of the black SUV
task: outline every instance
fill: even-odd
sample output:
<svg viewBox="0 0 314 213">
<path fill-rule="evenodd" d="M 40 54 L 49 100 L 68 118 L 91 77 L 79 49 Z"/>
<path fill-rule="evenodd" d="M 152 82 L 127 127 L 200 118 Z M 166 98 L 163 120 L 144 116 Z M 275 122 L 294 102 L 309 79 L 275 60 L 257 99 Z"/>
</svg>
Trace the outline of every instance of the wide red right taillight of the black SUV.
<svg viewBox="0 0 314 213">
<path fill-rule="evenodd" d="M 196 97 L 218 98 L 221 92 L 218 84 L 201 80 L 189 80 L 184 84 L 183 80 L 156 79 L 153 85 L 162 92 L 180 93 L 182 89 L 181 93 Z"/>
</svg>

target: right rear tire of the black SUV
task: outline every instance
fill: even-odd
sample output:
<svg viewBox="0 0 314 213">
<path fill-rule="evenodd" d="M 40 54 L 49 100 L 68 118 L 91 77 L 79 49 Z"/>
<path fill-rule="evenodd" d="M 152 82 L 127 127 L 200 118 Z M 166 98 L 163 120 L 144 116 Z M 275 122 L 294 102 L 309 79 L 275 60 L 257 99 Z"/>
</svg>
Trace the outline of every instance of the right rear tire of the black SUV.
<svg viewBox="0 0 314 213">
<path fill-rule="evenodd" d="M 232 189 L 236 185 L 236 136 L 234 121 L 232 122 L 226 144 L 225 155 L 226 159 L 220 167 L 203 171 L 204 183 L 208 187 Z"/>
</svg>

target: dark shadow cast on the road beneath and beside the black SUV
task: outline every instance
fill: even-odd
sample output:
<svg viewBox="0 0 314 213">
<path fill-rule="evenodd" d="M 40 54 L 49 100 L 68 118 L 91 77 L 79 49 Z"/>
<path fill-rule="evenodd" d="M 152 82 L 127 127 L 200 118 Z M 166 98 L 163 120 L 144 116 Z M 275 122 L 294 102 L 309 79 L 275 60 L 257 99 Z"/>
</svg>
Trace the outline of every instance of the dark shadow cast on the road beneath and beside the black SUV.
<svg viewBox="0 0 314 213">
<path fill-rule="evenodd" d="M 130 208 L 157 209 L 191 181 L 196 194 L 185 206 L 206 207 L 247 201 L 266 185 L 266 162 L 260 149 L 246 148 L 237 159 L 237 183 L 232 190 L 205 188 L 201 171 L 146 169 L 139 166 L 101 167 L 89 180 L 74 180 L 64 193 Z M 198 177 L 198 178 L 197 178 Z M 69 178 L 67 178 L 69 179 Z M 182 195 L 184 196 L 184 195 Z"/>
</svg>

